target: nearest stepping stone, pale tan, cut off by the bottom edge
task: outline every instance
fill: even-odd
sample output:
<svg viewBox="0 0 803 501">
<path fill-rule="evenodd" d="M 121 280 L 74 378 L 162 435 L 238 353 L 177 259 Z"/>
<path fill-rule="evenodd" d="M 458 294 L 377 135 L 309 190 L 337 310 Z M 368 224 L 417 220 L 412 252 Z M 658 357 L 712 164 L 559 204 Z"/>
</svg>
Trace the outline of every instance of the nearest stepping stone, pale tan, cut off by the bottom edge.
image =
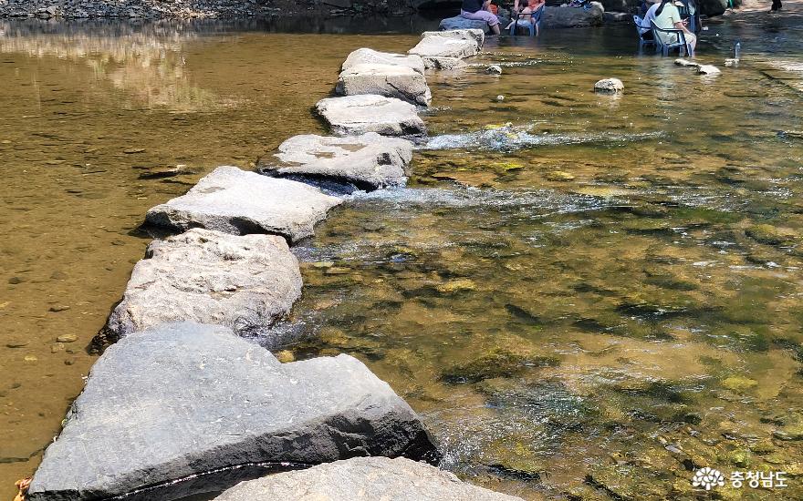
<svg viewBox="0 0 803 501">
<path fill-rule="evenodd" d="M 464 484 L 451 473 L 409 459 L 358 457 L 308 470 L 265 476 L 232 487 L 214 501 L 521 501 Z"/>
</svg>

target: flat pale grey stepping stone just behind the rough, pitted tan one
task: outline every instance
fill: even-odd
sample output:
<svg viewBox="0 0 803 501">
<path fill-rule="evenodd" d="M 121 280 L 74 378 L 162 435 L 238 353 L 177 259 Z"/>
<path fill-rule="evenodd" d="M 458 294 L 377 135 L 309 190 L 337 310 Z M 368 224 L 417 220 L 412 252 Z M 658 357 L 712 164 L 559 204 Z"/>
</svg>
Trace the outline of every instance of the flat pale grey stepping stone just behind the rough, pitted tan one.
<svg viewBox="0 0 803 501">
<path fill-rule="evenodd" d="M 224 166 L 198 181 L 186 195 L 148 210 L 145 220 L 182 231 L 273 233 L 295 242 L 312 236 L 315 224 L 340 202 L 304 183 Z"/>
</svg>

